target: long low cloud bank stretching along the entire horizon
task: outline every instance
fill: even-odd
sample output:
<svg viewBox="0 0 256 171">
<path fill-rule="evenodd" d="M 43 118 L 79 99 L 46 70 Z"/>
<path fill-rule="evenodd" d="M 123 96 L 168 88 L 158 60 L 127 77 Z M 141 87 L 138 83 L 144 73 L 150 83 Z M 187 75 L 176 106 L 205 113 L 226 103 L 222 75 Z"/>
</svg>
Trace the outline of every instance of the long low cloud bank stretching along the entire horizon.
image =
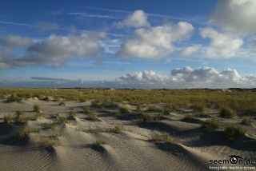
<svg viewBox="0 0 256 171">
<path fill-rule="evenodd" d="M 174 69 L 170 75 L 157 74 L 154 71 L 124 74 L 113 81 L 85 81 L 82 78 L 70 80 L 64 78 L 32 77 L 31 87 L 88 87 L 88 88 L 138 88 L 138 89 L 186 89 L 186 88 L 255 88 L 256 74 L 241 76 L 235 69 L 219 72 L 210 67 L 192 69 L 186 66 L 183 69 Z M 1 87 L 13 83 L 2 82 Z M 25 84 L 25 82 L 24 82 Z M 17 87 L 14 86 L 14 87 Z M 20 85 L 22 87 L 22 85 Z"/>
</svg>

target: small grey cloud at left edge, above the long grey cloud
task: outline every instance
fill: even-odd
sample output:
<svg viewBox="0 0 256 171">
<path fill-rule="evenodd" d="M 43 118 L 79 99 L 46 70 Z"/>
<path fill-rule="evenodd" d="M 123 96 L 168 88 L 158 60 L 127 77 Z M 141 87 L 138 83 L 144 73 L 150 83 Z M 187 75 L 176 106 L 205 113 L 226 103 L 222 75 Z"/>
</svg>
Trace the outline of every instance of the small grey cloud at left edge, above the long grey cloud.
<svg viewBox="0 0 256 171">
<path fill-rule="evenodd" d="M 32 45 L 34 42 L 30 38 L 22 38 L 18 35 L 11 35 L 4 38 L 0 38 L 1 46 L 10 46 L 10 47 L 26 47 Z"/>
</svg>

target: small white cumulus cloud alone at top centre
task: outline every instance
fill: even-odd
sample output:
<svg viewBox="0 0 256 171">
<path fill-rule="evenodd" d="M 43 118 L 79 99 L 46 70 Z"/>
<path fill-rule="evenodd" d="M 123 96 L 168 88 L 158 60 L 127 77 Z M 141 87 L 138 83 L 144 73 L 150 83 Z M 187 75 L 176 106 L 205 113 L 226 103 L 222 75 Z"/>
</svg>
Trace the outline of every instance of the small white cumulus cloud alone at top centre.
<svg viewBox="0 0 256 171">
<path fill-rule="evenodd" d="M 125 20 L 122 22 L 114 22 L 114 26 L 118 28 L 122 28 L 124 26 L 128 27 L 149 27 L 150 23 L 147 22 L 147 16 L 143 10 L 135 10 L 132 15 L 129 15 Z"/>
</svg>

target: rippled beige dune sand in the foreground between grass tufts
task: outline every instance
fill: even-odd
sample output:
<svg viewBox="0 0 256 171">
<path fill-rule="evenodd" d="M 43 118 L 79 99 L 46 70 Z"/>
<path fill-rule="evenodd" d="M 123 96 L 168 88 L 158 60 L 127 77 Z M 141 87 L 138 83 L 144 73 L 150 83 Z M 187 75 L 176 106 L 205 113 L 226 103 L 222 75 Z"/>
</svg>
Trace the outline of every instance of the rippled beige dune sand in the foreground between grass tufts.
<svg viewBox="0 0 256 171">
<path fill-rule="evenodd" d="M 90 106 L 90 101 L 66 101 L 65 106 L 57 101 L 40 101 L 36 97 L 21 101 L 0 101 L 0 170 L 210 170 L 211 167 L 256 167 L 254 164 L 210 164 L 210 160 L 223 160 L 230 155 L 239 155 L 256 160 L 256 129 L 254 125 L 242 125 L 246 135 L 229 142 L 223 136 L 223 128 L 207 133 L 200 128 L 206 117 L 182 120 L 189 109 L 165 115 L 161 121 L 142 124 L 138 117 L 129 113 L 115 117 L 117 109 Z M 26 115 L 34 113 L 33 105 L 41 106 L 44 117 L 35 121 L 4 122 L 4 116 L 14 116 L 17 110 Z M 82 107 L 88 105 L 98 114 L 100 121 L 88 121 Z M 157 104 L 161 105 L 161 104 Z M 130 106 L 134 109 L 134 106 Z M 77 115 L 70 124 L 57 124 L 49 129 L 44 126 L 54 120 L 50 114 L 65 117 L 74 111 Z M 209 109 L 208 115 L 217 115 L 218 109 Z M 222 120 L 222 125 L 239 121 L 239 117 Z M 97 128 L 124 125 L 126 130 L 97 133 Z M 19 139 L 18 133 L 26 126 L 38 129 Z M 151 141 L 151 134 L 157 129 L 178 139 L 177 144 Z M 130 130 L 130 131 L 127 131 Z M 44 141 L 57 142 L 46 148 Z M 106 144 L 94 145 L 104 141 Z M 211 168 L 218 169 L 218 168 Z M 254 168 L 252 168 L 254 169 Z M 234 168 L 232 170 L 241 170 Z"/>
</svg>

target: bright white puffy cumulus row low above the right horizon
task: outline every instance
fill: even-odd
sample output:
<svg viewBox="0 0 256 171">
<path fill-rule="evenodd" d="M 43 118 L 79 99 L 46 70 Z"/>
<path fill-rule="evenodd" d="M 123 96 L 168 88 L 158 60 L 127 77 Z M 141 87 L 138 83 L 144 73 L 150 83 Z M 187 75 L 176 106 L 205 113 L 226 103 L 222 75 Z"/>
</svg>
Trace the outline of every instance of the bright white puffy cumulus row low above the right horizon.
<svg viewBox="0 0 256 171">
<path fill-rule="evenodd" d="M 118 78 L 121 85 L 138 87 L 166 87 L 166 88 L 228 88 L 228 85 L 238 85 L 240 87 L 254 87 L 256 85 L 256 75 L 242 77 L 235 69 L 226 69 L 218 72 L 214 68 L 200 67 L 192 69 L 186 66 L 183 69 L 171 70 L 170 76 L 156 74 L 154 71 L 144 71 L 134 74 L 125 74 Z"/>
</svg>

